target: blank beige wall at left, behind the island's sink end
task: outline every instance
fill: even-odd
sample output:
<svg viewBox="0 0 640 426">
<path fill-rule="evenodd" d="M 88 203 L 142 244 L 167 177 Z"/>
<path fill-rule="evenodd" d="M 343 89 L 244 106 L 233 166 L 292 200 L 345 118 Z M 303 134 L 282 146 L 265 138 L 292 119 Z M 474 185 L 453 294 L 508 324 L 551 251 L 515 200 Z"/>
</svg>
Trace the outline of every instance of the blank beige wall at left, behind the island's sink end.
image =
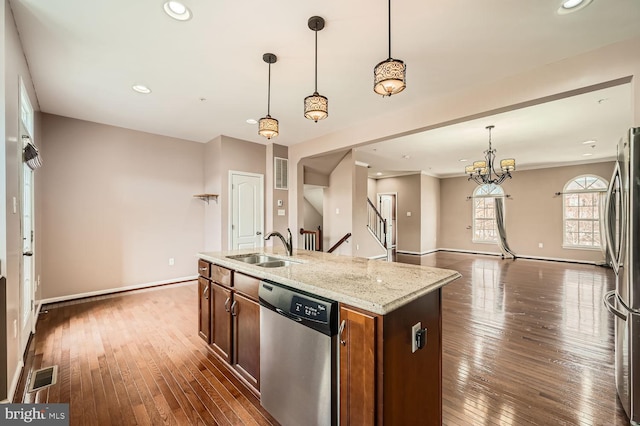
<svg viewBox="0 0 640 426">
<path fill-rule="evenodd" d="M 194 276 L 203 144 L 49 114 L 42 132 L 43 299 Z"/>
</svg>

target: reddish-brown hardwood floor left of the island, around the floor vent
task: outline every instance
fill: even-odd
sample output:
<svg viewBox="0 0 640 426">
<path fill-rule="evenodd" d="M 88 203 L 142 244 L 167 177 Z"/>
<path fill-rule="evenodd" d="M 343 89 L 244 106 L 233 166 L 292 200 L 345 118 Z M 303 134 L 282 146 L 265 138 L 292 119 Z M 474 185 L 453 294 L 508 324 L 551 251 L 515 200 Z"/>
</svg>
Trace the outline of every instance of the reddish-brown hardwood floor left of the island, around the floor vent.
<svg viewBox="0 0 640 426">
<path fill-rule="evenodd" d="M 17 402 L 68 402 L 71 425 L 271 425 L 198 337 L 197 282 L 43 308 L 25 371 L 55 385 Z M 46 311 L 45 311 L 46 310 Z"/>
</svg>

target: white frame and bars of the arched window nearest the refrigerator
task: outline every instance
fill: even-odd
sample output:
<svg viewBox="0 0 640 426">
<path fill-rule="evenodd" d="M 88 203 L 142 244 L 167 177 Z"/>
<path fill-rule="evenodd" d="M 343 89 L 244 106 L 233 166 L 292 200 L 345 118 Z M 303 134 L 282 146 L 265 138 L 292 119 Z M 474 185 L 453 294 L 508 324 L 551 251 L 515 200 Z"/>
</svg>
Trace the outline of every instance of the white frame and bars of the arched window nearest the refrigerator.
<svg viewBox="0 0 640 426">
<path fill-rule="evenodd" d="M 581 183 L 579 183 L 578 181 L 581 179 L 586 179 L 586 178 L 593 178 L 595 179 L 593 183 L 596 183 L 597 181 L 602 182 L 603 187 L 602 188 L 598 188 L 598 189 L 589 189 L 589 188 L 585 188 L 585 189 L 569 189 L 568 187 L 573 184 L 574 182 L 577 183 L 578 185 L 581 185 Z M 593 183 L 590 185 L 592 186 Z M 570 179 L 569 181 L 567 181 L 567 183 L 564 185 L 564 188 L 562 189 L 562 248 L 563 249 L 568 249 L 568 250 L 602 250 L 602 244 L 603 244 L 603 238 L 604 236 L 600 233 L 600 213 L 602 211 L 602 206 L 600 206 L 600 201 L 601 201 L 601 197 L 599 194 L 601 193 L 606 193 L 607 192 L 607 188 L 609 187 L 609 182 L 602 178 L 601 176 L 598 175 L 593 175 L 593 174 L 584 174 L 584 175 L 579 175 L 576 176 L 572 179 Z M 567 207 L 571 207 L 568 205 L 568 197 L 571 195 L 575 195 L 578 194 L 578 197 L 580 196 L 580 194 L 595 194 L 596 196 L 596 202 L 598 203 L 595 206 L 591 206 L 592 209 L 595 209 L 595 214 L 597 215 L 597 217 L 595 218 L 584 218 L 584 217 L 580 217 L 580 214 L 578 213 L 578 217 L 576 218 L 568 218 L 567 217 Z M 580 207 L 582 207 L 580 205 L 580 202 L 578 202 L 577 206 L 574 207 L 578 207 L 578 209 Z M 567 232 L 568 232 L 568 222 L 577 222 L 578 223 L 578 231 L 576 231 L 576 233 L 579 235 L 580 234 L 580 228 L 579 228 L 579 222 L 583 221 L 590 221 L 592 222 L 592 231 L 591 231 L 591 235 L 593 236 L 595 234 L 595 229 L 598 230 L 598 235 L 600 238 L 600 244 L 598 245 L 584 245 L 584 244 L 573 244 L 572 242 L 567 240 Z M 594 226 L 595 225 L 595 226 Z M 585 232 L 586 233 L 586 232 Z M 579 237 L 578 237 L 579 238 Z M 592 241 L 594 241 L 594 239 L 592 238 Z"/>
</svg>

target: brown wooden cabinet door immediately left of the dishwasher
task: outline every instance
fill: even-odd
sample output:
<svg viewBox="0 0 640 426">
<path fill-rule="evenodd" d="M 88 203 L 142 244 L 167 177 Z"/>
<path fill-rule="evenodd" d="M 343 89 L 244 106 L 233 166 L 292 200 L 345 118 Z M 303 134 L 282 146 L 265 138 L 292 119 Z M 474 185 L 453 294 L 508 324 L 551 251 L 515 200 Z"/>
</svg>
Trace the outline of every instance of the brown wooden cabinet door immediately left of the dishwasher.
<svg viewBox="0 0 640 426">
<path fill-rule="evenodd" d="M 233 298 L 234 367 L 249 384 L 259 390 L 260 305 L 238 293 Z"/>
</svg>

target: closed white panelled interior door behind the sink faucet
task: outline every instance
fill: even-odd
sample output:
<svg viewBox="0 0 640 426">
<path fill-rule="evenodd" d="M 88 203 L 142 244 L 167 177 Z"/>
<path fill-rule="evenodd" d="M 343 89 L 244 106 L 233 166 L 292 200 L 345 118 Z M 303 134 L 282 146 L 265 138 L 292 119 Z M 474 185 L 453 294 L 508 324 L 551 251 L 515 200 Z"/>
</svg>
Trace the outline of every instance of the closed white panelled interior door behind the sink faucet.
<svg viewBox="0 0 640 426">
<path fill-rule="evenodd" d="M 253 249 L 264 244 L 263 176 L 231 172 L 230 248 Z"/>
</svg>

